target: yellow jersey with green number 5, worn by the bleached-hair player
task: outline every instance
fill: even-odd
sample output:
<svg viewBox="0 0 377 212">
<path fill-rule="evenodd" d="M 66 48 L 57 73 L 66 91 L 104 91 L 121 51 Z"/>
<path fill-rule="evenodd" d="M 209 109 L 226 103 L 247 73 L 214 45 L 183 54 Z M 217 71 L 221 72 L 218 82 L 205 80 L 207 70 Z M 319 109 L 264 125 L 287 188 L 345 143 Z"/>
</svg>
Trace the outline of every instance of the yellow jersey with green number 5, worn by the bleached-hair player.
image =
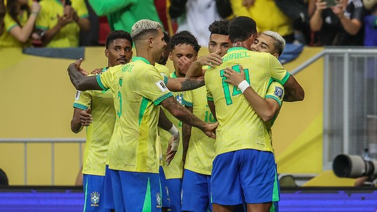
<svg viewBox="0 0 377 212">
<path fill-rule="evenodd" d="M 110 139 L 110 169 L 158 173 L 156 158 L 158 105 L 172 96 L 164 77 L 147 59 L 134 56 L 130 63 L 97 75 L 98 84 L 111 89 L 115 126 Z"/>
</svg>

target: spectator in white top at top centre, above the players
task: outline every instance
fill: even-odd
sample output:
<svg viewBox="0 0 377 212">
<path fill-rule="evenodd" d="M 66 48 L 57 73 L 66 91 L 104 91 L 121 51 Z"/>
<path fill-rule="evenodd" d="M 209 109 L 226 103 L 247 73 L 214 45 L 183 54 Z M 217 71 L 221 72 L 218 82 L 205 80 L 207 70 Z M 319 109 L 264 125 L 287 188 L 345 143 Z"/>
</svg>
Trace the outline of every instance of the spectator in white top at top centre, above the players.
<svg viewBox="0 0 377 212">
<path fill-rule="evenodd" d="M 172 0 L 169 13 L 171 18 L 177 18 L 177 31 L 190 31 L 202 46 L 208 44 L 209 24 L 221 19 L 214 0 Z"/>
</svg>

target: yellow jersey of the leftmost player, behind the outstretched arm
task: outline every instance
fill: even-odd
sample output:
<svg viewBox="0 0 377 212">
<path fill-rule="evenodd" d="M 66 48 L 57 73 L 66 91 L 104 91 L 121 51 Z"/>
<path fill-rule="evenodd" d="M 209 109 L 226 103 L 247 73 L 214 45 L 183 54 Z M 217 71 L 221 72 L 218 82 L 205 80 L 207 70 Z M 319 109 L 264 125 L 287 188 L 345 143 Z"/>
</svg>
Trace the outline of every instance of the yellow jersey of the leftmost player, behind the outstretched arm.
<svg viewBox="0 0 377 212">
<path fill-rule="evenodd" d="M 108 91 L 77 91 L 73 107 L 82 110 L 91 107 L 93 122 L 87 127 L 83 174 L 105 176 L 106 156 L 115 124 L 112 93 Z"/>
</svg>

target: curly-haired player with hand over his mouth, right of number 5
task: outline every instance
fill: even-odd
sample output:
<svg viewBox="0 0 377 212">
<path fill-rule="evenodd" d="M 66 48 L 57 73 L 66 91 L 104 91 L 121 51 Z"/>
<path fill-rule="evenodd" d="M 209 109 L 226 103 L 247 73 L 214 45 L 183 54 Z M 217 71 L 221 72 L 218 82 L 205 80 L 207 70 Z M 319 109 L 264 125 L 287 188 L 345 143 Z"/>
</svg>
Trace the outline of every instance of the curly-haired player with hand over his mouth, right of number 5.
<svg viewBox="0 0 377 212">
<path fill-rule="evenodd" d="M 171 52 L 170 52 L 170 60 L 173 63 L 175 68 L 175 72 L 173 72 L 170 77 L 177 78 L 177 77 L 184 77 L 186 75 L 187 69 L 180 66 L 183 63 L 192 63 L 197 59 L 198 52 L 200 50 L 200 45 L 198 45 L 198 40 L 188 31 L 180 31 L 172 36 L 171 42 Z M 172 92 L 174 98 L 177 102 L 181 105 L 184 105 L 184 93 L 185 92 Z M 179 121 L 169 114 L 165 110 L 166 116 L 168 119 L 178 127 L 179 132 L 182 134 L 182 121 Z M 160 130 L 160 137 L 161 137 L 161 146 L 162 149 L 165 149 L 165 145 L 170 135 L 163 130 Z M 202 133 L 203 134 L 203 133 Z M 204 135 L 204 134 L 203 134 Z M 212 139 L 214 140 L 214 139 Z M 163 155 L 163 159 L 165 156 Z M 164 161 L 164 160 L 163 160 Z M 179 145 L 178 151 L 176 156 L 170 165 L 167 165 L 163 162 L 163 172 L 165 173 L 166 183 L 169 189 L 169 197 L 170 197 L 170 210 L 171 211 L 181 211 L 181 189 L 182 189 L 182 174 L 183 174 L 183 162 L 182 162 L 182 145 Z"/>
</svg>

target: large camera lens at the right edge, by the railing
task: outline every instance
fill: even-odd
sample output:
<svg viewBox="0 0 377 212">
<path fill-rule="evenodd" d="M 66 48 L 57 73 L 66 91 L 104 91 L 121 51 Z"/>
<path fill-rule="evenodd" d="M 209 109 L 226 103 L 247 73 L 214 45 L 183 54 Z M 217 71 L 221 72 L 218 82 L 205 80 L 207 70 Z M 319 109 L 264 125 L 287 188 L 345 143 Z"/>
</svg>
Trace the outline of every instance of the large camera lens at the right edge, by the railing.
<svg viewBox="0 0 377 212">
<path fill-rule="evenodd" d="M 377 160 L 341 154 L 334 158 L 332 169 L 335 175 L 339 177 L 359 178 L 369 176 L 371 179 L 375 179 L 377 176 Z"/>
</svg>

